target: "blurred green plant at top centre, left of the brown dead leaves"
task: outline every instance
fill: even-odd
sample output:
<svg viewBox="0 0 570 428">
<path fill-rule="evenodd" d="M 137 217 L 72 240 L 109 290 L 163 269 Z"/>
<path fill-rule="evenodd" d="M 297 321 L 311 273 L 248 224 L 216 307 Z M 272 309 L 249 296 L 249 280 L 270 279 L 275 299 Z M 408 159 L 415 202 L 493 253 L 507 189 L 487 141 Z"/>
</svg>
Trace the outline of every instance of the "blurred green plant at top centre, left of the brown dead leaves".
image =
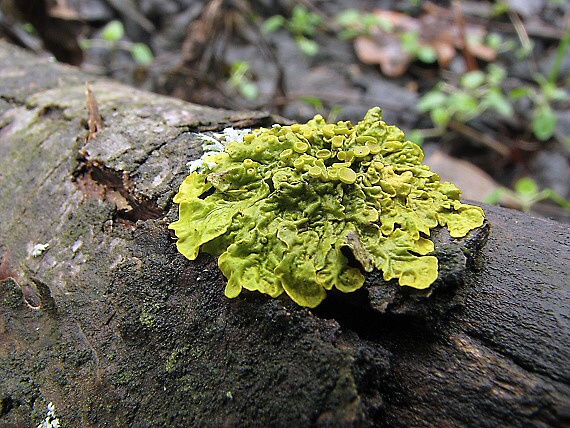
<svg viewBox="0 0 570 428">
<path fill-rule="evenodd" d="M 307 56 L 314 56 L 319 52 L 319 45 L 312 38 L 319 31 L 323 20 L 319 15 L 309 11 L 302 5 L 296 5 L 291 11 L 289 19 L 282 15 L 269 17 L 262 25 L 265 33 L 272 33 L 285 28 L 291 33 L 297 47 Z"/>
</svg>

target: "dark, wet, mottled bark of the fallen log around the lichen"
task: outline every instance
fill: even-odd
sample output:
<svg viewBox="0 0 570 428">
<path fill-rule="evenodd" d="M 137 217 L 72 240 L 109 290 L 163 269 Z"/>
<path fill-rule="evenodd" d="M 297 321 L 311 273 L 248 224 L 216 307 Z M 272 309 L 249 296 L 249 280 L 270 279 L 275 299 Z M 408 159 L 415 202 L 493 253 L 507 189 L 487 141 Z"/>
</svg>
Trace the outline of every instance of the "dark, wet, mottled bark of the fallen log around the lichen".
<svg viewBox="0 0 570 428">
<path fill-rule="evenodd" d="M 276 119 L 1 43 L 0 69 L 0 425 L 48 402 L 69 427 L 570 423 L 567 226 L 485 207 L 490 227 L 439 233 L 427 295 L 373 273 L 313 311 L 229 300 L 212 257 L 177 253 L 172 196 L 198 132 Z"/>
</svg>

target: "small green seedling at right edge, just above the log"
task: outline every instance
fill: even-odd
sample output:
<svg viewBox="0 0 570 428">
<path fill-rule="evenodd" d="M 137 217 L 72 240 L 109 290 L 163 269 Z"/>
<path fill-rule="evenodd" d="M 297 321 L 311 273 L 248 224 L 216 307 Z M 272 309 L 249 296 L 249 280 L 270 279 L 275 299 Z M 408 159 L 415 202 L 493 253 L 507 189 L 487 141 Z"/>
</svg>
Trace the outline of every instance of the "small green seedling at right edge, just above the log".
<svg viewBox="0 0 570 428">
<path fill-rule="evenodd" d="M 539 190 L 536 182 L 530 177 L 520 178 L 515 183 L 513 190 L 504 187 L 498 188 L 487 196 L 484 202 L 488 204 L 497 204 L 503 197 L 511 199 L 515 203 L 519 204 L 521 210 L 525 212 L 529 212 L 534 204 L 545 200 L 550 200 L 565 210 L 570 211 L 570 202 L 568 202 L 562 195 L 550 188 Z"/>
</svg>

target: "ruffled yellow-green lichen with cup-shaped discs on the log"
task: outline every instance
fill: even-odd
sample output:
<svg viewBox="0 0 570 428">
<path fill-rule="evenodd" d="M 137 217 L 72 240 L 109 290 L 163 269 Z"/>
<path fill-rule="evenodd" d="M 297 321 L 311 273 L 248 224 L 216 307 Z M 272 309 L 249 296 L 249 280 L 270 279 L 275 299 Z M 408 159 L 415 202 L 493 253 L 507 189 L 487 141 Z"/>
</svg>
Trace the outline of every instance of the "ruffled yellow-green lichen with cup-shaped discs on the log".
<svg viewBox="0 0 570 428">
<path fill-rule="evenodd" d="M 343 249 L 365 271 L 427 288 L 438 274 L 430 229 L 465 236 L 484 213 L 462 204 L 459 189 L 422 159 L 378 107 L 356 126 L 317 115 L 262 128 L 205 157 L 206 167 L 180 186 L 180 218 L 169 227 L 187 258 L 219 256 L 228 297 L 244 288 L 285 291 L 315 307 L 333 287 L 354 291 L 364 276 Z"/>
</svg>

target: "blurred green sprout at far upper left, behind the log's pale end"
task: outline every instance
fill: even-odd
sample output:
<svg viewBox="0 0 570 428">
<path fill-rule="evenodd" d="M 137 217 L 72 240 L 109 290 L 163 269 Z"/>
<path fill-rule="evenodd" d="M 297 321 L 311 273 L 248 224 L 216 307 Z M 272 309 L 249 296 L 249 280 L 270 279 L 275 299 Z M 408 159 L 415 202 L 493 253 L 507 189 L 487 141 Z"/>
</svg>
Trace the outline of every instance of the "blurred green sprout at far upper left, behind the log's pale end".
<svg viewBox="0 0 570 428">
<path fill-rule="evenodd" d="M 145 43 L 132 43 L 123 40 L 125 28 L 120 21 L 109 22 L 101 31 L 100 39 L 84 39 L 80 42 L 83 50 L 103 47 L 110 51 L 126 50 L 139 65 L 150 65 L 154 60 L 152 51 Z"/>
</svg>

